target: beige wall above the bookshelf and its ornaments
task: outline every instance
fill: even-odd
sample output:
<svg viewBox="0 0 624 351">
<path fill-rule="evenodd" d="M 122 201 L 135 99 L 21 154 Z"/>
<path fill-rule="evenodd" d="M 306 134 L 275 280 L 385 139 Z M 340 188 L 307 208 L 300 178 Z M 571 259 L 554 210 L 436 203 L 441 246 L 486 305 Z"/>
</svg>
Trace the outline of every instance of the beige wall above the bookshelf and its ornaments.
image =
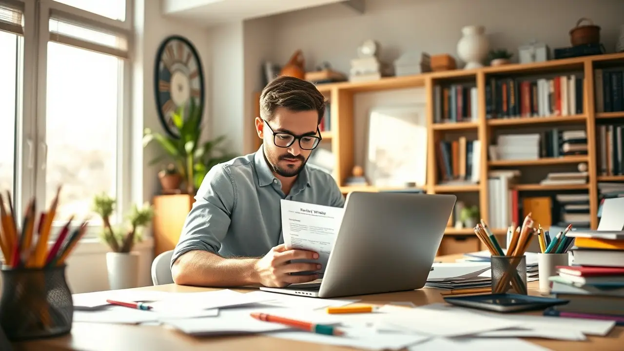
<svg viewBox="0 0 624 351">
<path fill-rule="evenodd" d="M 308 69 L 329 61 L 349 71 L 349 60 L 366 39 L 381 44 L 381 56 L 394 61 L 404 52 L 456 56 L 461 27 L 485 26 L 492 47 L 514 52 L 532 39 L 551 48 L 570 46 L 568 32 L 581 17 L 602 27 L 608 52 L 615 50 L 624 24 L 621 0 L 367 0 L 364 14 L 329 4 L 273 16 L 274 59 L 284 63 L 302 49 Z"/>
</svg>

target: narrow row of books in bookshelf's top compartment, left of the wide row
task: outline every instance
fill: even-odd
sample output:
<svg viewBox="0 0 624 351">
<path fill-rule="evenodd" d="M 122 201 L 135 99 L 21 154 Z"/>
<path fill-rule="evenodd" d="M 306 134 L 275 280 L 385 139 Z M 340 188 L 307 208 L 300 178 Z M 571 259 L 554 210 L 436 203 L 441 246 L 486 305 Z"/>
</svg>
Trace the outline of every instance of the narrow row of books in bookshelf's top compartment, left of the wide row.
<svg viewBox="0 0 624 351">
<path fill-rule="evenodd" d="M 451 84 L 434 87 L 434 123 L 477 121 L 477 87 Z"/>
</svg>

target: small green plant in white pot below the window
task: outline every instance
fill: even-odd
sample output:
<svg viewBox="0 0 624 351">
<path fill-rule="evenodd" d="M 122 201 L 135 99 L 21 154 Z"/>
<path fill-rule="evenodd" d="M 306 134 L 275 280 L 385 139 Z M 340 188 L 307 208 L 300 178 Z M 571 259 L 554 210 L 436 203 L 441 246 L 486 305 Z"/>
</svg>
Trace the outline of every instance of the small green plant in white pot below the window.
<svg viewBox="0 0 624 351">
<path fill-rule="evenodd" d="M 100 217 L 104 229 L 102 240 L 109 245 L 111 252 L 106 253 L 106 266 L 111 290 L 128 289 L 139 284 L 139 254 L 134 252 L 134 244 L 142 239 L 141 229 L 152 221 L 154 210 L 149 204 L 139 208 L 133 205 L 127 219 L 129 225 L 120 225 L 114 229 L 110 216 L 115 210 L 115 199 L 103 193 L 96 195 L 93 210 Z"/>
</svg>

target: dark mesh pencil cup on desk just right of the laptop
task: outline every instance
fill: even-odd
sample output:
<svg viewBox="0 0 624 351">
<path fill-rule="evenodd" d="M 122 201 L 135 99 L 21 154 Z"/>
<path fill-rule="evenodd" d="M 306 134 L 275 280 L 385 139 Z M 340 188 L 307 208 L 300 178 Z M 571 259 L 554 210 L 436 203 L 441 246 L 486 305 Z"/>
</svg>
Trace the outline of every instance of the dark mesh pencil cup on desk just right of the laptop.
<svg viewBox="0 0 624 351">
<path fill-rule="evenodd" d="M 527 295 L 527 258 L 492 256 L 492 294 Z"/>
</svg>

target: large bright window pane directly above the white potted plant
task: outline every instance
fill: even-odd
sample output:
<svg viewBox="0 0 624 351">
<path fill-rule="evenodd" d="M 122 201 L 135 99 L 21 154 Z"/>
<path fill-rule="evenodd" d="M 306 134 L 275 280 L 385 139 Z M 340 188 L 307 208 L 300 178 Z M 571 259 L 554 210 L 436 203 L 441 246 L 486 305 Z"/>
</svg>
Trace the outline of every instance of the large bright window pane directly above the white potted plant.
<svg viewBox="0 0 624 351">
<path fill-rule="evenodd" d="M 57 220 L 82 219 L 94 195 L 115 195 L 119 66 L 114 56 L 48 43 L 46 203 L 62 184 Z"/>
</svg>

